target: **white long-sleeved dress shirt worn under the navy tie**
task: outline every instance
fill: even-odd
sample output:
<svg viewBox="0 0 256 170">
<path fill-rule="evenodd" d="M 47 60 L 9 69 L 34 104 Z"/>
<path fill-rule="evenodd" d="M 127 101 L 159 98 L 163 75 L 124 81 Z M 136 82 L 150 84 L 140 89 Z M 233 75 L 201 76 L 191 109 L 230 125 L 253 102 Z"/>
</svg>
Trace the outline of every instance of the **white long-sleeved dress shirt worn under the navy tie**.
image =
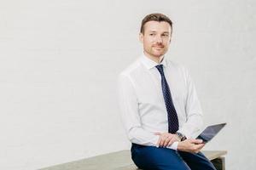
<svg viewBox="0 0 256 170">
<path fill-rule="evenodd" d="M 202 112 L 188 71 L 169 59 L 162 60 L 166 81 L 177 111 L 179 133 L 195 138 L 201 131 Z M 119 106 L 131 143 L 156 146 L 154 133 L 168 132 L 166 104 L 161 89 L 159 65 L 144 54 L 119 74 Z M 177 150 L 177 142 L 167 148 Z"/>
</svg>

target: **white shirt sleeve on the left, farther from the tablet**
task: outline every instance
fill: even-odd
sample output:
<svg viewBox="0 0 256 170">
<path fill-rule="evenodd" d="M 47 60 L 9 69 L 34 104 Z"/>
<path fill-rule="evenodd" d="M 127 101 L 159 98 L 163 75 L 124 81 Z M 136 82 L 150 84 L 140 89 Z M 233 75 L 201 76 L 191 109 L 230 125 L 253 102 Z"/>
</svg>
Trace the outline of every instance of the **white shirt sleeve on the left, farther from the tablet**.
<svg viewBox="0 0 256 170">
<path fill-rule="evenodd" d="M 131 143 L 156 146 L 159 136 L 143 129 L 136 91 L 131 79 L 126 75 L 119 75 L 118 95 L 121 119 L 125 126 L 128 139 Z M 177 144 L 172 144 L 167 148 L 177 150 Z"/>
</svg>

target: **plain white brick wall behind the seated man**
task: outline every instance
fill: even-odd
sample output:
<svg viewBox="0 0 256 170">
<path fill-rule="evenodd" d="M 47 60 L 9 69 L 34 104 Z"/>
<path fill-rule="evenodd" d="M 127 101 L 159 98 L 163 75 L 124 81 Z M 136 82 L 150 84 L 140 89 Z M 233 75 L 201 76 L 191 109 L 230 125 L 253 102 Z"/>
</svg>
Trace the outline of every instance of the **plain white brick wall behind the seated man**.
<svg viewBox="0 0 256 170">
<path fill-rule="evenodd" d="M 228 150 L 228 170 L 255 168 L 255 11 L 253 0 L 1 0 L 0 169 L 129 149 L 116 77 L 154 12 L 174 22 L 168 57 L 194 78 L 205 124 L 228 123 L 205 150 Z"/>
</svg>

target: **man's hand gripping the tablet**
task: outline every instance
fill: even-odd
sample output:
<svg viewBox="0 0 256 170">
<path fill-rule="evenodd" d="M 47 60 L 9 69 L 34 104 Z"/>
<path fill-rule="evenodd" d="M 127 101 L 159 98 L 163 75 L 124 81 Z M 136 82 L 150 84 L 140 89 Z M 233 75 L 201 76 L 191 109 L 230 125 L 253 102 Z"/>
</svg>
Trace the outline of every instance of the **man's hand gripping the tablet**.
<svg viewBox="0 0 256 170">
<path fill-rule="evenodd" d="M 177 150 L 198 153 L 204 145 L 201 139 L 186 139 L 177 144 Z"/>
</svg>

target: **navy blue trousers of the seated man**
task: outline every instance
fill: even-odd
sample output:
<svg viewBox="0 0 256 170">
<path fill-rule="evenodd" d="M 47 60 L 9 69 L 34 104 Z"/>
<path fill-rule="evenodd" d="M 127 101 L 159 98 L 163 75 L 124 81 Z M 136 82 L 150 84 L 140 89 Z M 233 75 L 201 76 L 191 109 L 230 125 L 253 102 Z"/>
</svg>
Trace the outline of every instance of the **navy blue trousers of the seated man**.
<svg viewBox="0 0 256 170">
<path fill-rule="evenodd" d="M 201 152 L 193 154 L 132 144 L 131 159 L 143 170 L 216 170 L 212 162 Z"/>
</svg>

